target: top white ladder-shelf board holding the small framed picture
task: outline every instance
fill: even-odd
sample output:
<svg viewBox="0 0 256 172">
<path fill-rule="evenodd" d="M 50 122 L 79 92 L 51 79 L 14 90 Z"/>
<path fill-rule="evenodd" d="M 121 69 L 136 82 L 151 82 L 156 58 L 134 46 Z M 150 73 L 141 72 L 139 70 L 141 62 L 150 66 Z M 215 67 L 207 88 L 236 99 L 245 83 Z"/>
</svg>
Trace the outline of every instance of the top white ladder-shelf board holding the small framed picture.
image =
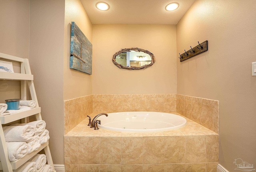
<svg viewBox="0 0 256 172">
<path fill-rule="evenodd" d="M 0 80 L 33 80 L 34 76 L 30 74 L 0 72 Z"/>
</svg>

